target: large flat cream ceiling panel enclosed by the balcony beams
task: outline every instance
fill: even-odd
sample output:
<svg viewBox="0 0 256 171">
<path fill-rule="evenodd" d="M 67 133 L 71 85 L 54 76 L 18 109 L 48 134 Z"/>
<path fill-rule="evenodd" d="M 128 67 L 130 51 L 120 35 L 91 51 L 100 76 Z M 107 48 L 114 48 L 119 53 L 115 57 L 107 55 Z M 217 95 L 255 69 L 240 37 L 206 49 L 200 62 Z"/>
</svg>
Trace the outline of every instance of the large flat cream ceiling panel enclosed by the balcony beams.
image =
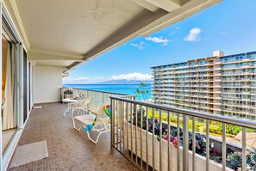
<svg viewBox="0 0 256 171">
<path fill-rule="evenodd" d="M 31 51 L 82 56 L 144 9 L 122 0 L 16 0 Z"/>
</svg>

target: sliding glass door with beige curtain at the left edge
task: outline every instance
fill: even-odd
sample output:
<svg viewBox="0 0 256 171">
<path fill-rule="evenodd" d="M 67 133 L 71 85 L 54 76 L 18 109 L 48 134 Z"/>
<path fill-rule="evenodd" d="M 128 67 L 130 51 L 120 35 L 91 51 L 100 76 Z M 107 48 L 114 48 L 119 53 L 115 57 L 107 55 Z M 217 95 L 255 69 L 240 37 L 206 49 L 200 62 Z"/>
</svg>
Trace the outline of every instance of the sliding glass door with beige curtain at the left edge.
<svg viewBox="0 0 256 171">
<path fill-rule="evenodd" d="M 2 166 L 4 170 L 28 118 L 27 53 L 6 9 L 2 8 Z M 3 50 L 4 49 L 4 50 Z M 5 66 L 5 67 L 4 67 Z M 25 99 L 25 100 L 24 100 Z M 25 102 L 26 101 L 26 102 Z M 0 168 L 0 169 L 1 169 Z"/>
</svg>

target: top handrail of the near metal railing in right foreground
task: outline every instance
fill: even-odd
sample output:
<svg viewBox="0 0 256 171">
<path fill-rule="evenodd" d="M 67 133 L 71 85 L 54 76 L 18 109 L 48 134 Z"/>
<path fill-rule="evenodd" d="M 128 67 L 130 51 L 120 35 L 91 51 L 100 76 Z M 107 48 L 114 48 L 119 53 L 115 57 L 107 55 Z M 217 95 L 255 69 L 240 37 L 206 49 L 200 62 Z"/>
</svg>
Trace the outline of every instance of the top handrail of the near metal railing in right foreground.
<svg viewBox="0 0 256 171">
<path fill-rule="evenodd" d="M 238 118 L 232 118 L 232 117 L 228 117 L 228 116 L 191 111 L 191 110 L 184 109 L 184 108 L 172 107 L 172 106 L 167 106 L 167 105 L 159 105 L 159 104 L 154 104 L 154 103 L 147 103 L 144 101 L 133 101 L 133 100 L 128 100 L 128 99 L 123 99 L 121 97 L 110 96 L 109 98 L 111 100 L 113 99 L 113 100 L 117 100 L 117 101 L 126 101 L 129 103 L 135 103 L 135 104 L 145 106 L 145 107 L 153 107 L 153 108 L 158 108 L 160 110 L 165 110 L 165 111 L 174 112 L 174 113 L 181 113 L 181 114 L 185 114 L 185 115 L 189 115 L 189 116 L 193 116 L 193 117 L 197 117 L 197 118 L 215 120 L 215 121 L 230 124 L 230 125 L 239 125 L 239 126 L 246 127 L 246 128 L 256 129 L 256 122 L 252 121 L 252 120 L 238 119 Z"/>
</svg>

